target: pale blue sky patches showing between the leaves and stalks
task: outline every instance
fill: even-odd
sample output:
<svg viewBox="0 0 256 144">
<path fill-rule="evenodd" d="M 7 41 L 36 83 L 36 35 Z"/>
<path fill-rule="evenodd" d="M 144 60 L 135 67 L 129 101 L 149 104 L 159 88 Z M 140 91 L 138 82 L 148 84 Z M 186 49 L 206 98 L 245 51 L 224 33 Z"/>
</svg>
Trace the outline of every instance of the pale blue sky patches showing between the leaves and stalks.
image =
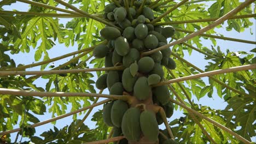
<svg viewBox="0 0 256 144">
<path fill-rule="evenodd" d="M 19 11 L 26 11 L 29 7 L 28 7 L 27 4 L 17 2 L 15 4 L 12 4 L 11 6 L 6 6 L 6 7 L 3 7 L 3 8 L 5 10 L 16 9 L 16 10 L 19 10 Z M 61 19 L 61 22 L 66 23 L 69 20 L 70 19 Z M 246 39 L 246 40 L 256 41 L 255 20 L 254 20 L 254 25 L 251 27 L 251 31 L 253 32 L 253 35 L 250 34 L 249 29 L 246 29 L 246 31 L 242 32 L 242 33 L 238 33 L 236 31 L 227 32 L 225 30 L 226 26 L 227 25 L 225 23 L 223 25 L 224 28 L 219 28 L 219 29 L 215 29 L 215 30 L 219 33 L 224 34 L 225 37 L 242 38 L 242 39 Z M 202 44 L 211 49 L 212 43 L 211 43 L 210 40 L 203 40 L 202 39 Z M 232 52 L 236 52 L 236 51 L 247 51 L 247 52 L 249 52 L 250 50 L 255 48 L 255 45 L 252 45 L 252 44 L 238 43 L 238 42 L 235 42 L 235 41 L 226 41 L 226 40 L 217 40 L 217 45 L 220 46 L 222 51 L 226 51 L 226 49 L 229 49 Z M 69 46 L 69 47 L 65 47 L 65 45 L 63 45 L 63 44 L 57 44 L 51 50 L 48 51 L 49 57 L 54 58 L 54 57 L 61 56 L 61 55 L 64 55 L 66 53 L 69 53 L 69 52 L 77 51 L 77 47 L 78 46 L 76 44 L 74 46 Z M 30 64 L 30 63 L 34 62 L 34 52 L 35 52 L 35 50 L 31 48 L 30 53 L 19 53 L 17 55 L 10 55 L 10 57 L 15 60 L 16 64 L 19 64 L 19 63 Z M 204 55 L 202 55 L 201 53 L 193 51 L 190 56 L 188 55 L 187 52 L 185 52 L 185 57 L 184 58 L 187 59 L 190 63 L 192 63 L 192 64 L 196 65 L 197 67 L 199 67 L 200 69 L 204 70 L 205 65 L 207 65 L 208 61 L 205 61 L 203 59 L 203 57 L 204 57 Z M 68 58 L 62 59 L 60 61 L 54 62 L 54 64 L 57 66 L 59 64 L 67 62 L 70 58 L 72 58 L 72 57 L 68 57 Z M 40 59 L 40 61 L 42 61 L 42 59 Z M 34 68 L 27 69 L 27 70 L 39 70 L 39 69 L 40 69 L 40 67 L 34 67 Z M 97 78 L 97 76 L 93 80 L 96 81 L 96 78 Z M 207 77 L 203 78 L 203 80 L 205 80 L 206 83 L 208 83 L 208 78 Z M 35 84 L 37 86 L 40 86 L 40 87 L 45 87 L 46 82 L 48 82 L 48 81 L 40 79 L 40 80 L 36 81 Z M 105 90 L 103 93 L 108 94 L 108 91 Z M 210 106 L 212 109 L 224 109 L 225 106 L 226 106 L 226 103 L 224 102 L 224 100 L 220 99 L 216 93 L 213 93 L 212 98 L 203 97 L 202 99 L 200 99 L 200 101 L 197 101 L 197 99 L 195 97 L 193 97 L 192 99 L 194 100 L 194 103 L 207 105 L 207 106 Z M 67 112 L 69 112 L 70 109 L 71 109 L 71 106 L 68 106 Z M 85 124 L 88 125 L 90 128 L 95 127 L 95 123 L 91 122 L 90 119 L 91 119 L 92 113 L 96 112 L 98 109 L 102 109 L 102 106 L 95 107 L 95 109 L 91 112 L 90 116 L 85 121 Z M 84 114 L 82 114 L 81 116 L 78 116 L 78 118 L 81 119 L 81 118 L 83 118 L 83 116 L 84 116 Z M 178 111 L 175 111 L 173 116 L 168 120 L 172 121 L 173 119 L 179 118 L 181 116 L 183 116 L 183 114 L 182 114 L 181 111 L 178 110 Z M 38 115 L 38 118 L 40 119 L 40 121 L 44 121 L 46 119 L 51 118 L 51 113 L 46 113 L 46 115 L 43 115 L 43 116 Z M 56 122 L 55 127 L 62 128 L 65 125 L 69 125 L 72 121 L 73 121 L 72 116 L 60 119 L 59 121 Z M 43 131 L 49 130 L 49 129 L 53 128 L 53 126 L 54 126 L 53 124 L 49 123 L 49 124 L 45 124 L 43 126 L 37 127 L 36 128 L 36 131 L 37 131 L 36 135 L 39 136 L 39 134 L 43 133 Z M 18 128 L 18 125 L 16 125 L 15 128 Z M 160 128 L 164 129 L 164 125 L 161 125 Z M 15 136 L 16 136 L 16 133 L 11 134 L 11 139 L 13 141 L 15 139 Z M 28 140 L 28 139 L 26 139 L 26 138 L 22 139 L 22 141 L 24 141 L 24 140 Z"/>
</svg>

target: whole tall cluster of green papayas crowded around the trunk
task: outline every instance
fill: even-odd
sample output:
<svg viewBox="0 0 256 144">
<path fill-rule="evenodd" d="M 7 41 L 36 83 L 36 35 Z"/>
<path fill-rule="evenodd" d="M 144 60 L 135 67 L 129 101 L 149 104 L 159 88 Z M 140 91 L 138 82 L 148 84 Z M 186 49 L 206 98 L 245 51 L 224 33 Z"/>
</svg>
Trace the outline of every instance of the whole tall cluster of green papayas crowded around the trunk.
<svg viewBox="0 0 256 144">
<path fill-rule="evenodd" d="M 129 1 L 130 2 L 130 1 Z M 108 88 L 109 94 L 128 94 L 135 97 L 139 104 L 161 106 L 166 117 L 173 114 L 173 104 L 168 100 L 170 92 L 167 86 L 156 86 L 164 79 L 165 66 L 175 69 L 176 64 L 170 57 L 171 49 L 156 51 L 149 56 L 141 53 L 167 45 L 167 38 L 172 37 L 175 30 L 171 26 L 154 26 L 151 21 L 155 19 L 153 10 L 148 7 L 150 0 L 142 7 L 141 1 L 128 3 L 125 7 L 119 1 L 106 5 L 104 19 L 115 26 L 106 26 L 101 31 L 101 37 L 108 40 L 108 44 L 98 45 L 93 51 L 95 58 L 105 58 L 105 67 L 123 65 L 124 70 L 109 70 L 98 77 L 96 87 Z M 127 5 L 126 5 L 127 6 Z M 147 102 L 148 104 L 148 102 Z M 138 105 L 138 104 L 137 104 Z M 109 127 L 114 127 L 113 136 L 124 135 L 126 139 L 119 143 L 137 142 L 141 137 L 152 143 L 159 142 L 159 126 L 163 119 L 159 112 L 140 109 L 139 106 L 128 104 L 123 100 L 115 100 L 103 108 L 103 120 Z M 161 141 L 173 143 L 172 139 Z"/>
</svg>

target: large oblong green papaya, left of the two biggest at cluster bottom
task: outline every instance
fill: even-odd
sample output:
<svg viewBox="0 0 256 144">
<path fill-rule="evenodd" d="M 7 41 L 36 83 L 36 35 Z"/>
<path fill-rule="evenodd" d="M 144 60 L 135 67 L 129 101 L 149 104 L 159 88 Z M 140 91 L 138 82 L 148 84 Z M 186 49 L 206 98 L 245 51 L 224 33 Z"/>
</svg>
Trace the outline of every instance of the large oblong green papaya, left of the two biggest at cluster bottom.
<svg viewBox="0 0 256 144">
<path fill-rule="evenodd" d="M 130 142 L 138 141 L 141 136 L 140 115 L 141 111 L 137 107 L 131 107 L 124 113 L 121 128 L 124 136 Z"/>
</svg>

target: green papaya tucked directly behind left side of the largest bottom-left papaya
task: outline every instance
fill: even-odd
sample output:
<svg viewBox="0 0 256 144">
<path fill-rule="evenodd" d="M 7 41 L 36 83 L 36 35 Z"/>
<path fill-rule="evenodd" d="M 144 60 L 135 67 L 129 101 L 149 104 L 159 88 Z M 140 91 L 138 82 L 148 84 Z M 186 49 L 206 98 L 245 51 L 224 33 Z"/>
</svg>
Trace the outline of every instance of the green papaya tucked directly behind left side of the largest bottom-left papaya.
<svg viewBox="0 0 256 144">
<path fill-rule="evenodd" d="M 115 100 L 111 108 L 111 121 L 115 127 L 121 127 L 124 113 L 128 110 L 128 105 L 122 100 Z"/>
</svg>

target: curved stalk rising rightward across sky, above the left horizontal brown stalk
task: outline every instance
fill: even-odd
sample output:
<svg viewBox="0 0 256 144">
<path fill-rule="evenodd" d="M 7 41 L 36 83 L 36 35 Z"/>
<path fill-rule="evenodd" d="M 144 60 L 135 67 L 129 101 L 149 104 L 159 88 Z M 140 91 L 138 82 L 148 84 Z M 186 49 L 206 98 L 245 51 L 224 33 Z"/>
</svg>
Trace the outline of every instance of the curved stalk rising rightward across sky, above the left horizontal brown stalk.
<svg viewBox="0 0 256 144">
<path fill-rule="evenodd" d="M 107 40 L 104 40 L 102 43 L 100 44 L 107 44 Z M 100 45 L 100 44 L 97 44 L 97 45 Z M 38 65 L 43 65 L 43 64 L 47 64 L 47 63 L 50 63 L 50 62 L 55 62 L 55 61 L 58 61 L 60 59 L 63 59 L 63 58 L 66 58 L 66 57 L 70 57 L 70 56 L 73 56 L 73 55 L 76 55 L 78 53 L 82 53 L 82 52 L 86 52 L 86 51 L 91 51 L 93 50 L 97 45 L 94 45 L 94 46 L 91 46 L 91 47 L 88 47 L 86 49 L 83 49 L 83 50 L 79 50 L 79 51 L 74 51 L 74 52 L 71 52 L 71 53 L 67 53 L 66 55 L 62 55 L 62 56 L 59 56 L 59 57 L 55 57 L 55 58 L 51 58 L 51 59 L 48 59 L 47 61 L 43 61 L 43 62 L 38 62 L 38 63 L 32 63 L 32 64 L 27 64 L 27 65 L 23 65 L 23 66 L 20 66 L 20 67 L 17 67 L 17 68 L 10 68 L 10 69 L 6 69 L 8 71 L 11 71 L 11 70 L 24 70 L 26 68 L 32 68 L 32 67 L 37 67 Z"/>
</svg>

